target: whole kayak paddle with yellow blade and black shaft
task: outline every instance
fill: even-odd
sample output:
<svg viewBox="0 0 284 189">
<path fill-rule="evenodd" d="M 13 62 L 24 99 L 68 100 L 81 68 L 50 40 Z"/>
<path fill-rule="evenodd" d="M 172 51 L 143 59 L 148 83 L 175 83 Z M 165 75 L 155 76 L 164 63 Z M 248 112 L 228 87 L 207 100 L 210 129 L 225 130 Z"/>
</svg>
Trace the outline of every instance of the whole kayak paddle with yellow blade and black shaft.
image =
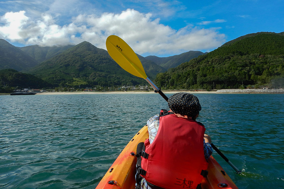
<svg viewBox="0 0 284 189">
<path fill-rule="evenodd" d="M 116 61 L 125 71 L 145 79 L 154 89 L 156 93 L 159 93 L 166 101 L 168 101 L 167 96 L 158 88 L 146 75 L 141 61 L 137 57 L 136 53 L 131 49 L 131 47 L 123 41 L 120 37 L 116 35 L 110 35 L 106 41 L 107 51 L 109 55 Z M 238 170 L 229 160 L 226 158 L 218 148 L 211 143 L 212 148 L 237 172 Z"/>
</svg>

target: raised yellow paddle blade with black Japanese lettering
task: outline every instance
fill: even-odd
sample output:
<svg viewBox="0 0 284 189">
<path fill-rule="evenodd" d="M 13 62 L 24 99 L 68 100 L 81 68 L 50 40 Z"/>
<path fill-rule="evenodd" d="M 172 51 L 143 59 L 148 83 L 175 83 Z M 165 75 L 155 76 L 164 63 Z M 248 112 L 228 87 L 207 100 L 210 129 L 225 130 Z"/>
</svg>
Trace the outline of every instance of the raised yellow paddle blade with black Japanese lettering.
<svg viewBox="0 0 284 189">
<path fill-rule="evenodd" d="M 135 52 L 116 35 L 110 35 L 106 41 L 107 51 L 109 55 L 118 63 L 125 71 L 137 77 L 147 78 L 141 61 Z"/>
</svg>

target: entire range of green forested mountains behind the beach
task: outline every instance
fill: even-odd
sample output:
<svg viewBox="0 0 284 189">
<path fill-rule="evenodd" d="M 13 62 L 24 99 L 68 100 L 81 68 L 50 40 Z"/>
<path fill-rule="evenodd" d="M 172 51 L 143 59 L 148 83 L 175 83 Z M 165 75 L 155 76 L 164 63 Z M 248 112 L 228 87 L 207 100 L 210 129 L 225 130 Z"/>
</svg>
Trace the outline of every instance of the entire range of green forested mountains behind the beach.
<svg viewBox="0 0 284 189">
<path fill-rule="evenodd" d="M 162 58 L 140 55 L 138 57 L 147 76 L 155 79 L 154 82 L 158 87 L 165 89 L 210 90 L 260 85 L 272 88 L 284 87 L 284 32 L 244 35 L 193 59 L 190 57 L 192 52 L 195 54 L 200 51 L 189 51 Z M 38 61 L 48 57 L 52 58 L 38 64 Z M 183 61 L 184 63 L 180 64 Z M 178 66 L 168 71 L 160 66 L 175 64 Z M 7 68 L 22 72 L 25 70 L 35 77 Z M 124 71 L 106 50 L 99 49 L 86 41 L 73 47 L 45 48 L 32 45 L 19 48 L 0 39 L 1 69 L 6 69 L 1 72 L 0 80 L 4 87 L 7 83 L 13 87 L 26 83 L 23 87 L 35 88 L 111 87 L 147 83 L 144 79 Z"/>
</svg>

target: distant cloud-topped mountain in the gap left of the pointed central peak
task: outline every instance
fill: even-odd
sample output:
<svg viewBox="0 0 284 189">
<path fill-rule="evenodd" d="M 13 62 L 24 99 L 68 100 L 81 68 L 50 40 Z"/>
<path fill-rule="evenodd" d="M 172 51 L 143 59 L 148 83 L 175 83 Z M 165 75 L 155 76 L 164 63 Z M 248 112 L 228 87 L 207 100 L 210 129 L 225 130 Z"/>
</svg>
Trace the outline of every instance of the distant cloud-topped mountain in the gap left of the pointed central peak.
<svg viewBox="0 0 284 189">
<path fill-rule="evenodd" d="M 62 53 L 66 49 L 69 49 L 70 47 L 73 46 L 74 45 L 66 45 L 66 46 L 54 45 L 52 47 L 42 47 L 39 45 L 30 45 L 19 48 L 29 56 L 33 57 L 39 63 L 41 63 Z"/>
</svg>

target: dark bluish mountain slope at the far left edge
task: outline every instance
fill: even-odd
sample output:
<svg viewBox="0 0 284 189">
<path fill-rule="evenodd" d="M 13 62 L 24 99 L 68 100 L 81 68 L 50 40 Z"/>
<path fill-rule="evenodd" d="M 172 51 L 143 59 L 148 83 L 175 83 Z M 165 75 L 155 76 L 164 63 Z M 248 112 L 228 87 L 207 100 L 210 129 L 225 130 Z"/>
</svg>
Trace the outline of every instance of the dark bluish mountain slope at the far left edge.
<svg viewBox="0 0 284 189">
<path fill-rule="evenodd" d="M 21 71 L 35 65 L 38 65 L 38 62 L 33 57 L 4 39 L 0 39 L 0 70 L 10 68 Z"/>
</svg>

